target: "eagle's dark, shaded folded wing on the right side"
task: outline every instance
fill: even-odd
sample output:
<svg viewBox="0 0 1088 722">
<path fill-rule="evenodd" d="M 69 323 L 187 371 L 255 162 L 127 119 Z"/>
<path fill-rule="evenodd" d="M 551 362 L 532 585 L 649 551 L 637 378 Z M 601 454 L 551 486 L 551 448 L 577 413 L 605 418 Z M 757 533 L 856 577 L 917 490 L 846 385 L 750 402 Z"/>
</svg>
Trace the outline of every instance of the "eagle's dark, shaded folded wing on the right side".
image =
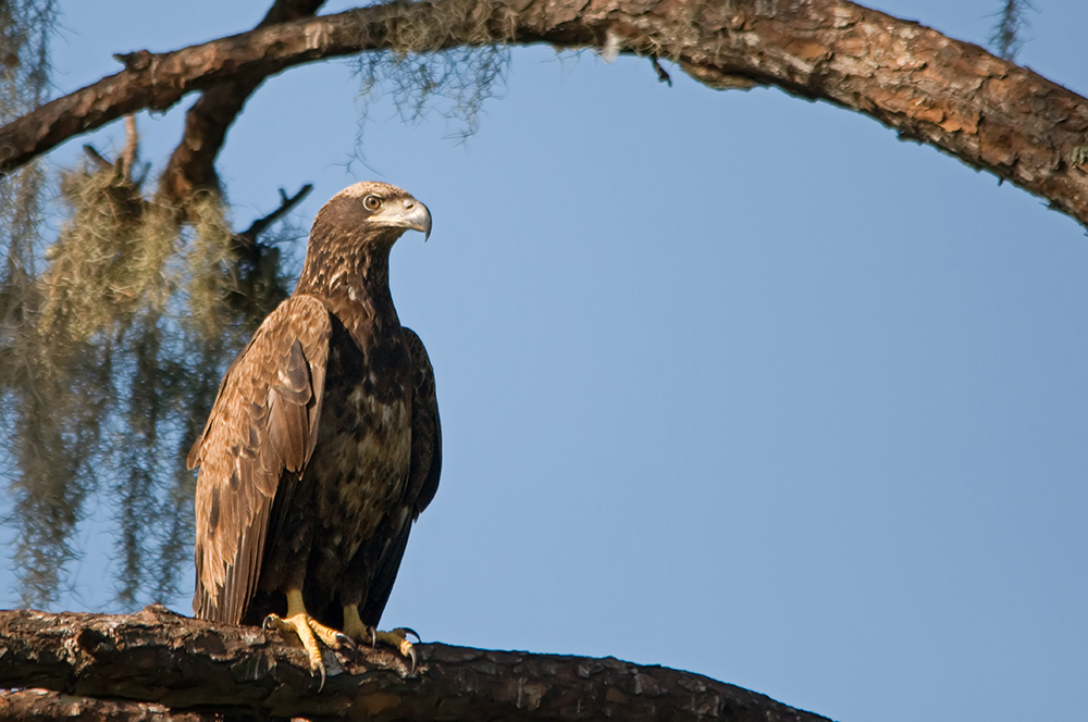
<svg viewBox="0 0 1088 722">
<path fill-rule="evenodd" d="M 438 490 L 442 472 L 442 426 L 438 423 L 438 401 L 434 394 L 434 370 L 423 341 L 411 328 L 405 328 L 408 353 L 412 364 L 411 397 L 411 461 L 405 488 L 403 513 L 390 515 L 387 543 L 374 571 L 366 601 L 359 615 L 364 624 L 378 626 L 400 571 L 400 561 L 408 546 L 412 523 L 426 509 Z"/>
</svg>

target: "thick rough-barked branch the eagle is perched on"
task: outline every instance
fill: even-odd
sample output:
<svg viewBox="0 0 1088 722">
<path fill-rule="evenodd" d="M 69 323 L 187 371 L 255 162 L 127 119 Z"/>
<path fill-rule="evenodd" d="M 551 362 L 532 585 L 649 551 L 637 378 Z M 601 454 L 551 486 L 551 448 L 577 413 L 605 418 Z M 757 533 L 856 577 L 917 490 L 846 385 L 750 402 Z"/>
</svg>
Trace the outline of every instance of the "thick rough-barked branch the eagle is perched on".
<svg viewBox="0 0 1088 722">
<path fill-rule="evenodd" d="M 617 659 L 417 647 L 325 653 L 318 692 L 297 639 L 148 607 L 133 615 L 0 612 L 0 718 L 346 717 L 457 719 L 825 720 L 698 674 Z M 45 692 L 49 690 L 49 692 Z M 218 719 L 218 718 L 217 718 Z"/>
</svg>

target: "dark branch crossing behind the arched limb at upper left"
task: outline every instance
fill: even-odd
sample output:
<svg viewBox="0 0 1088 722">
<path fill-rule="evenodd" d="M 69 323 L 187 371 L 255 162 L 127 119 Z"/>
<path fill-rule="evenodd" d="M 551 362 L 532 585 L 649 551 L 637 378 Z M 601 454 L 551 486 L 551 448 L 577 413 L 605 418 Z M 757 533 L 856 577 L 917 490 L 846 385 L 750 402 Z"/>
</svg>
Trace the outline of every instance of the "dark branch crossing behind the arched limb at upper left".
<svg viewBox="0 0 1088 722">
<path fill-rule="evenodd" d="M 258 28 L 309 17 L 324 0 L 276 0 Z M 184 207 L 198 190 L 219 192 L 215 157 L 226 130 L 242 112 L 249 96 L 264 82 L 261 73 L 239 74 L 230 83 L 209 88 L 185 114 L 185 132 L 162 174 L 159 192 L 168 204 Z"/>
</svg>

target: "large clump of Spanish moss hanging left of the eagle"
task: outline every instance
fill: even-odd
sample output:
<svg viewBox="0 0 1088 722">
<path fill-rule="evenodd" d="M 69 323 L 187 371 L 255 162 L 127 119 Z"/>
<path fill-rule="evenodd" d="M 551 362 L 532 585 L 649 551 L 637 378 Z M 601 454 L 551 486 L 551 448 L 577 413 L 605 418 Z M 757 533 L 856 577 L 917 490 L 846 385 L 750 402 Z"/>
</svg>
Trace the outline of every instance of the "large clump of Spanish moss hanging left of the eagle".
<svg viewBox="0 0 1088 722">
<path fill-rule="evenodd" d="M 57 599 L 96 493 L 115 521 L 118 600 L 177 594 L 191 553 L 184 458 L 226 364 L 286 297 L 279 249 L 239 239 L 219 197 L 191 198 L 181 213 L 145 194 L 132 165 L 62 172 L 67 220 L 53 244 L 35 253 L 9 239 L 21 256 L 0 290 L 0 393 L 14 561 L 30 606 Z"/>
</svg>

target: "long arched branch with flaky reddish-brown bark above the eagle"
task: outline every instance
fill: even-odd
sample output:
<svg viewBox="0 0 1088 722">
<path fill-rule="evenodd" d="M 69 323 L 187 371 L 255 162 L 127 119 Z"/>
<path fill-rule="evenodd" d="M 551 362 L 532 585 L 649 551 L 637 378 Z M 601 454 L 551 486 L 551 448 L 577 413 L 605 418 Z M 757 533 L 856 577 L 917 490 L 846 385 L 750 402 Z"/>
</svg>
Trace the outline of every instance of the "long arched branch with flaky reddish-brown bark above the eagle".
<svg viewBox="0 0 1088 722">
<path fill-rule="evenodd" d="M 675 60 L 712 87 L 776 85 L 865 113 L 1088 226 L 1088 101 L 978 46 L 846 0 L 421 0 L 262 27 L 125 70 L 0 128 L 0 173 L 143 109 L 371 50 L 546 42 Z M 251 82 L 251 80 L 250 80 Z"/>
</svg>

